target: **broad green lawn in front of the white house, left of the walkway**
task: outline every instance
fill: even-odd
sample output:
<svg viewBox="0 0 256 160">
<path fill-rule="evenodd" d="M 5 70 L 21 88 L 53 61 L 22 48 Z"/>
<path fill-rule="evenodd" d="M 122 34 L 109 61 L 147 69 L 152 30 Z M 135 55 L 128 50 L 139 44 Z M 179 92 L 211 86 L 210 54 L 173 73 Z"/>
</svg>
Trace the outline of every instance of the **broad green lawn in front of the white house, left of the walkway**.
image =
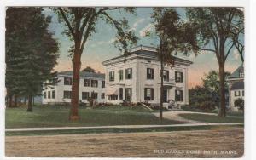
<svg viewBox="0 0 256 160">
<path fill-rule="evenodd" d="M 80 120 L 68 120 L 68 106 L 35 106 L 33 112 L 26 108 L 6 109 L 6 128 L 62 127 L 62 126 L 106 126 L 159 124 L 158 117 L 142 106 L 108 106 L 79 108 Z M 180 123 L 164 119 L 162 124 Z"/>
</svg>

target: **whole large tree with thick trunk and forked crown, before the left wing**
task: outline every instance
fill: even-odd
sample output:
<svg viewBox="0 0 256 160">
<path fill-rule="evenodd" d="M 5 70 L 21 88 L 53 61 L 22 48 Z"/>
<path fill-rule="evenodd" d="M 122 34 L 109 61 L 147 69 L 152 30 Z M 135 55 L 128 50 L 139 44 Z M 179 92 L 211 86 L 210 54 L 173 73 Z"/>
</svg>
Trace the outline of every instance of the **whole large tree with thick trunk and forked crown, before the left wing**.
<svg viewBox="0 0 256 160">
<path fill-rule="evenodd" d="M 59 21 L 64 23 L 66 28 L 64 33 L 73 41 L 71 46 L 71 57 L 73 62 L 73 84 L 70 120 L 79 119 L 79 71 L 81 67 L 81 55 L 88 38 L 96 32 L 98 20 L 104 20 L 107 24 L 113 25 L 117 30 L 115 46 L 119 50 L 127 49 L 132 44 L 137 43 L 137 37 L 133 31 L 129 30 L 128 21 L 115 20 L 108 12 L 111 10 L 125 11 L 134 14 L 133 8 L 118 7 L 96 7 L 96 8 L 57 8 Z"/>
</svg>

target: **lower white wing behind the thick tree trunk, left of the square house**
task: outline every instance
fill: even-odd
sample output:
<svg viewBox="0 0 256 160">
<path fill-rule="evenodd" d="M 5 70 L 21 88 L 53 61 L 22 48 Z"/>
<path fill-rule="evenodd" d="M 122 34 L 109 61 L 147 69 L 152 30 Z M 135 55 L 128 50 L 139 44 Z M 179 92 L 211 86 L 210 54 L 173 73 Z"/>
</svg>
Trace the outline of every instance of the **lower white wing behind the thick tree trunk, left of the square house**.
<svg viewBox="0 0 256 160">
<path fill-rule="evenodd" d="M 58 73 L 59 82 L 54 86 L 47 86 L 43 90 L 43 104 L 70 103 L 73 82 L 72 71 Z M 79 102 L 88 103 L 93 98 L 96 103 L 105 101 L 105 74 L 93 72 L 80 72 Z"/>
</svg>

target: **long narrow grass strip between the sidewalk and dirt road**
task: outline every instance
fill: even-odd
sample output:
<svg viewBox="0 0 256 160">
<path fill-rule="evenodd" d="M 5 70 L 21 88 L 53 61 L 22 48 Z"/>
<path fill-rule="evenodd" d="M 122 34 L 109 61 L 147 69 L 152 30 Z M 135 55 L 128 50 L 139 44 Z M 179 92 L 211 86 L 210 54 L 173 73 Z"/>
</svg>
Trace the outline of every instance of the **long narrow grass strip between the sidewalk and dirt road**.
<svg viewBox="0 0 256 160">
<path fill-rule="evenodd" d="M 141 128 L 141 129 L 67 129 L 67 130 L 41 130 L 41 131 L 15 131 L 5 132 L 7 136 L 32 136 L 32 135 L 56 135 L 56 134 L 102 134 L 102 133 L 135 133 L 135 132 L 172 132 L 189 130 L 209 130 L 219 128 L 232 128 L 235 126 L 185 126 L 185 127 L 163 127 L 163 128 Z M 243 125 L 236 125 L 243 127 Z"/>
</svg>

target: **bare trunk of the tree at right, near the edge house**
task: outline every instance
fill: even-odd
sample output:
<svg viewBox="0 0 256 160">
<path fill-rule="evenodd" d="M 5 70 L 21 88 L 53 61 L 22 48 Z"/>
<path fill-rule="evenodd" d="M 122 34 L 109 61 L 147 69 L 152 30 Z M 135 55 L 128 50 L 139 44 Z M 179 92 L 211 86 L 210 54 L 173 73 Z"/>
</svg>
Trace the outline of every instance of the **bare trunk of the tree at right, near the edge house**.
<svg viewBox="0 0 256 160">
<path fill-rule="evenodd" d="M 220 110 L 218 113 L 219 117 L 226 116 L 226 106 L 225 106 L 225 67 L 224 63 L 220 62 L 218 66 L 219 71 L 219 94 L 220 94 Z"/>
</svg>

